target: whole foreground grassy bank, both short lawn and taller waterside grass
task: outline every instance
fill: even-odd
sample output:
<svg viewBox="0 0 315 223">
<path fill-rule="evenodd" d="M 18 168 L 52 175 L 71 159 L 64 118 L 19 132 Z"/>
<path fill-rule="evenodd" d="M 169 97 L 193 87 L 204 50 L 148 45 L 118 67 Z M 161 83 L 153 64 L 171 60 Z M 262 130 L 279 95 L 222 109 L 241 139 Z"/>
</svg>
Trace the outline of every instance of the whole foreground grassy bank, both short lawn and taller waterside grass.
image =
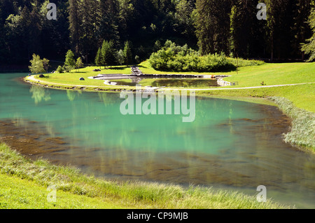
<svg viewBox="0 0 315 223">
<path fill-rule="evenodd" d="M 0 144 L 0 208 L 290 208 L 255 196 L 170 184 L 113 182 L 76 168 L 31 161 Z M 57 198 L 48 202 L 55 185 Z"/>
</svg>

